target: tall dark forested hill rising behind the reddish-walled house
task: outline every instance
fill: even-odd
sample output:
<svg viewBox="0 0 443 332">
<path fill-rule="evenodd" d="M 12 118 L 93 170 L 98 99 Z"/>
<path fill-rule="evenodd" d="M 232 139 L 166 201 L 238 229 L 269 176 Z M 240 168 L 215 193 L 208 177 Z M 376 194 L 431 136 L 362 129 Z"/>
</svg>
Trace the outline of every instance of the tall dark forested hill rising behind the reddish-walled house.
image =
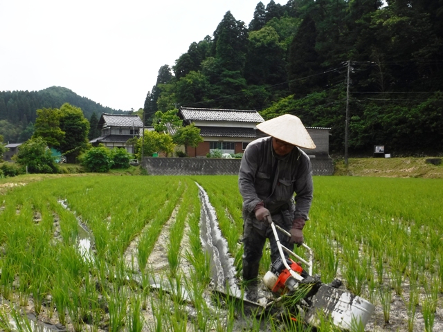
<svg viewBox="0 0 443 332">
<path fill-rule="evenodd" d="M 177 106 L 257 109 L 265 119 L 293 113 L 330 127 L 330 151 L 343 152 L 347 107 L 351 152 L 441 152 L 443 2 L 382 6 L 271 0 L 257 4 L 249 24 L 226 12 L 212 36 L 161 66 L 147 118 Z"/>
</svg>

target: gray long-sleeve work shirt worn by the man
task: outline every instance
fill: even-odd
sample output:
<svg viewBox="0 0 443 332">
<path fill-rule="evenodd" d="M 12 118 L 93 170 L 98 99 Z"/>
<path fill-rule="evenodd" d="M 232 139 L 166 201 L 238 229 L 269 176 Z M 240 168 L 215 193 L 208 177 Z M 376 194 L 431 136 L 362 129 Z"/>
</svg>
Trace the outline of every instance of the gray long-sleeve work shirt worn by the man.
<svg viewBox="0 0 443 332">
<path fill-rule="evenodd" d="M 309 219 L 314 191 L 311 161 L 298 147 L 280 157 L 273 151 L 271 137 L 249 143 L 240 165 L 238 184 L 243 197 L 244 216 L 251 214 L 261 201 L 273 214 L 286 204 L 291 205 L 296 193 L 294 219 Z"/>
</svg>

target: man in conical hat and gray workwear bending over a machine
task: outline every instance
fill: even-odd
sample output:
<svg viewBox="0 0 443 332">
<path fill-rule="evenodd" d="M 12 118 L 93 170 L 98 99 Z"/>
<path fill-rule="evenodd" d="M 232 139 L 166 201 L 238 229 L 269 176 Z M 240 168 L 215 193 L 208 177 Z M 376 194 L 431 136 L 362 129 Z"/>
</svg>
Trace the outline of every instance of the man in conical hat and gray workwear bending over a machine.
<svg viewBox="0 0 443 332">
<path fill-rule="evenodd" d="M 266 238 L 271 261 L 280 257 L 271 221 L 291 233 L 289 238 L 278 231 L 283 246 L 293 250 L 293 243 L 303 243 L 302 229 L 309 219 L 313 185 L 311 162 L 298 147 L 316 147 L 296 116 L 279 116 L 257 124 L 257 129 L 270 137 L 258 138 L 246 147 L 238 181 L 243 197 L 243 279 L 252 287 L 257 284 Z"/>
</svg>

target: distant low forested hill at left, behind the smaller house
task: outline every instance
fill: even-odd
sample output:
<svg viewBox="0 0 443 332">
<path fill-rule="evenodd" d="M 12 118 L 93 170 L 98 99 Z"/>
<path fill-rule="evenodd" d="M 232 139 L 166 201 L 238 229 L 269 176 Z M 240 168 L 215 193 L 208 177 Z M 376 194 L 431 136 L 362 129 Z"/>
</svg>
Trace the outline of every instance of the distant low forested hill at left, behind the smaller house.
<svg viewBox="0 0 443 332">
<path fill-rule="evenodd" d="M 3 141 L 24 142 L 33 133 L 37 109 L 58 109 L 65 102 L 80 107 L 88 120 L 93 113 L 98 117 L 101 113 L 123 113 L 80 97 L 61 86 L 51 86 L 40 91 L 0 91 L 0 135 Z"/>
</svg>

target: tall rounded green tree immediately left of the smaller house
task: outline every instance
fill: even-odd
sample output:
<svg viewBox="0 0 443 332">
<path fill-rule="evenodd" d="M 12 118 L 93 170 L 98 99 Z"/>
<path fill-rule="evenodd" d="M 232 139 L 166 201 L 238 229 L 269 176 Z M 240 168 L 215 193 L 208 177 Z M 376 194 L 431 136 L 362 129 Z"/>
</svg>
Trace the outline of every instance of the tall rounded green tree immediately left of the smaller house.
<svg viewBox="0 0 443 332">
<path fill-rule="evenodd" d="M 60 113 L 60 129 L 65 133 L 60 142 L 60 151 L 66 156 L 68 163 L 75 163 L 75 158 L 87 146 L 89 121 L 84 118 L 80 108 L 68 103 L 62 104 Z"/>
</svg>

